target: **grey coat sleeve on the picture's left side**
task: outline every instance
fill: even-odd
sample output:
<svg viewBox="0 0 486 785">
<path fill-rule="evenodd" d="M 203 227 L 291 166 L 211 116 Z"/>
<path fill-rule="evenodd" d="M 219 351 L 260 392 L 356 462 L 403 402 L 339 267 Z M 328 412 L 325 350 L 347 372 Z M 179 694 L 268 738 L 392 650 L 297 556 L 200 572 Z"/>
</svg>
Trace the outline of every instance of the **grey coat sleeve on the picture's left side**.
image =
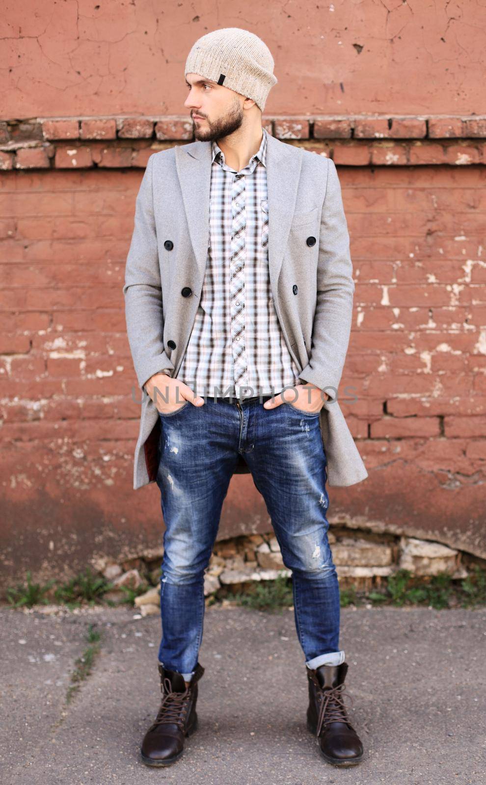
<svg viewBox="0 0 486 785">
<path fill-rule="evenodd" d="M 161 368 L 174 370 L 163 347 L 163 300 L 152 194 L 153 153 L 135 202 L 135 221 L 126 257 L 126 332 L 137 380 L 144 383 Z"/>
</svg>

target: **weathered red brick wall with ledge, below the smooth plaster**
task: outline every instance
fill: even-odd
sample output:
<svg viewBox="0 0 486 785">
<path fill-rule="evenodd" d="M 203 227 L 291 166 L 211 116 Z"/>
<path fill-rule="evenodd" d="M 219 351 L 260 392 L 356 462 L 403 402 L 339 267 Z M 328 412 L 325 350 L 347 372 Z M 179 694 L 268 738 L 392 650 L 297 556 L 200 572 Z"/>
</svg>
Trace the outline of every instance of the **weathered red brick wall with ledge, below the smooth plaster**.
<svg viewBox="0 0 486 785">
<path fill-rule="evenodd" d="M 114 127 L 113 141 L 44 138 L 59 128 L 65 135 L 66 127 L 82 135 L 70 121 L 49 126 L 30 146 L 10 127 L 16 148 L 0 152 L 0 477 L 9 579 L 27 567 L 70 571 L 96 553 L 153 546 L 163 531 L 157 487 L 132 487 L 140 409 L 131 397 L 138 391 L 122 283 L 144 163 L 154 149 L 184 144 L 167 135 L 188 133 L 183 121 L 161 121 L 154 133 L 162 139 L 142 141 L 153 122 L 127 123 L 127 137 L 112 122 L 86 125 L 85 134 Z M 268 122 L 276 135 L 297 137 L 290 144 L 332 155 L 351 236 L 356 293 L 340 392 L 370 476 L 330 489 L 331 520 L 484 556 L 481 120 L 440 121 L 439 141 L 432 119 L 396 121 L 399 138 L 389 140 L 374 138 L 376 123 L 392 134 L 395 120 L 322 120 L 310 138 L 309 119 Z M 235 476 L 220 537 L 268 528 L 250 476 Z"/>
</svg>

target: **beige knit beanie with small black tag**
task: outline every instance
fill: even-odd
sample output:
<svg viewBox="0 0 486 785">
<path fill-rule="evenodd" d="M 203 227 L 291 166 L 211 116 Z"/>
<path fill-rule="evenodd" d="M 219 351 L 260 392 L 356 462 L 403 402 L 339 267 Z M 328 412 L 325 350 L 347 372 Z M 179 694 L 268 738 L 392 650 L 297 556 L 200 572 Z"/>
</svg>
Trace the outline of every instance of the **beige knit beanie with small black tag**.
<svg viewBox="0 0 486 785">
<path fill-rule="evenodd" d="M 240 27 L 223 27 L 201 36 L 192 46 L 185 75 L 199 74 L 251 98 L 263 111 L 273 75 L 270 49 L 258 35 Z"/>
</svg>

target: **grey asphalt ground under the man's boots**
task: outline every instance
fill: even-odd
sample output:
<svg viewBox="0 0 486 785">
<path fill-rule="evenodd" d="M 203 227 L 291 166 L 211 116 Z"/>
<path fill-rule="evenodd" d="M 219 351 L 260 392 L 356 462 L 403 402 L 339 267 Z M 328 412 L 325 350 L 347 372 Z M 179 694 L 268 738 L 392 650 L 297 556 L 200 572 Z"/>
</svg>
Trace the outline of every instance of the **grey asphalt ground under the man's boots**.
<svg viewBox="0 0 486 785">
<path fill-rule="evenodd" d="M 0 614 L 2 785 L 486 783 L 486 608 L 342 608 L 349 717 L 364 743 L 347 769 L 324 761 L 306 728 L 293 611 L 206 608 L 199 728 L 164 769 L 139 757 L 160 701 L 158 616 Z M 100 653 L 66 703 L 90 624 Z"/>
</svg>

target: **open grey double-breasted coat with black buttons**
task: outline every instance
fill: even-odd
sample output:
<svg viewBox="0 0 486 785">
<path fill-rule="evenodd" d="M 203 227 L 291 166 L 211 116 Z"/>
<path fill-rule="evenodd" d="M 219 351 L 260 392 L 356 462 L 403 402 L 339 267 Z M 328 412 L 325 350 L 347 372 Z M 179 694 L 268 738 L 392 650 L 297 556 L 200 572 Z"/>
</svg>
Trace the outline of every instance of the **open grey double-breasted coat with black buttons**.
<svg viewBox="0 0 486 785">
<path fill-rule="evenodd" d="M 299 375 L 331 395 L 320 411 L 328 483 L 353 485 L 367 470 L 338 403 L 354 293 L 338 173 L 332 159 L 272 136 L 268 144 L 273 301 Z M 123 287 L 142 399 L 134 489 L 154 482 L 159 466 L 159 412 L 142 392 L 144 382 L 162 368 L 177 375 L 199 305 L 209 244 L 210 173 L 210 142 L 156 152 L 137 195 Z M 240 460 L 236 472 L 247 471 Z"/>
</svg>

